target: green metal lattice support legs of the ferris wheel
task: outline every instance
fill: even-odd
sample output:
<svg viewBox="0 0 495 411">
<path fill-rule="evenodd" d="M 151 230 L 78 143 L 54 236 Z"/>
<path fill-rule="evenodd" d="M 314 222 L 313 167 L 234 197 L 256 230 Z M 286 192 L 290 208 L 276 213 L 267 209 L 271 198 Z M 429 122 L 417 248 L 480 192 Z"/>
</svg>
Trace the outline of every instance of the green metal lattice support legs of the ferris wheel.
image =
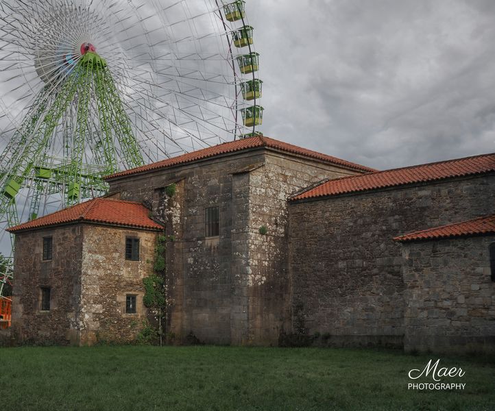
<svg viewBox="0 0 495 411">
<path fill-rule="evenodd" d="M 101 164 L 88 166 L 84 155 L 93 99 L 101 126 L 98 154 Z M 74 105 L 77 114 L 70 136 L 71 154 L 65 160 L 54 162 L 47 155 L 53 133 Z M 1 158 L 8 169 L 0 170 L 0 192 L 3 193 L 0 214 L 10 226 L 20 223 L 16 196 L 23 188 L 29 188 L 31 193 L 29 216 L 33 219 L 39 214 L 43 195 L 62 195 L 64 203 L 71 205 L 84 198 L 103 195 L 108 190 L 102 179 L 104 175 L 115 173 L 122 166 L 132 168 L 144 164 L 119 91 L 106 61 L 96 53 L 84 54 L 58 89 L 45 86 L 40 91 Z M 125 164 L 119 164 L 119 160 Z"/>
</svg>

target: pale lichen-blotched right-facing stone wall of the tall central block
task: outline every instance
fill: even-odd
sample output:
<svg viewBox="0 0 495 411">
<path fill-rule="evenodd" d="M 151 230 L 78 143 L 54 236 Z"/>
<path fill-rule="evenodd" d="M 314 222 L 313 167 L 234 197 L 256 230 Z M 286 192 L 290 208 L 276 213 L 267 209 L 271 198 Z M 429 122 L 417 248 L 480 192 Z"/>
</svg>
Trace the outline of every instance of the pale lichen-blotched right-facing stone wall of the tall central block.
<svg viewBox="0 0 495 411">
<path fill-rule="evenodd" d="M 277 345 L 280 334 L 291 329 L 287 198 L 322 179 L 349 174 L 280 153 L 267 153 L 265 164 L 250 173 L 249 270 L 245 277 L 248 341 Z M 267 234 L 260 233 L 261 227 Z"/>
</svg>

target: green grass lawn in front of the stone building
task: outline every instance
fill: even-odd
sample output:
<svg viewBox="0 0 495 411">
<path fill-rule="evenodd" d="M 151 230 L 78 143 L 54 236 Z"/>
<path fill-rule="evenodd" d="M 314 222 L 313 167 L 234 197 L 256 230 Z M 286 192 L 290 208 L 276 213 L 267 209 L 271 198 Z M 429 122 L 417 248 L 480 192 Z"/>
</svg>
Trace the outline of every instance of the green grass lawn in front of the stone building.
<svg viewBox="0 0 495 411">
<path fill-rule="evenodd" d="M 0 410 L 495 410 L 487 358 L 440 357 L 442 366 L 466 371 L 463 391 L 407 390 L 409 370 L 430 358 L 439 357 L 369 349 L 3 348 Z"/>
</svg>

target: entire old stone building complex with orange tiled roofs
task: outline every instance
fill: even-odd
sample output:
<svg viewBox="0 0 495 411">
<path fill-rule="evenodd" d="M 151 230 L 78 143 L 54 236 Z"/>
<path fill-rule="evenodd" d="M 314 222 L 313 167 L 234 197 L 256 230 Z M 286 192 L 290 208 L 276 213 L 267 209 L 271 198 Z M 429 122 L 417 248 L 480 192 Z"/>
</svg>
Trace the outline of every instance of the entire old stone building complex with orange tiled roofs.
<svg viewBox="0 0 495 411">
<path fill-rule="evenodd" d="M 106 180 L 10 229 L 19 340 L 136 338 L 165 235 L 176 343 L 495 352 L 495 154 L 375 171 L 254 136 Z"/>
</svg>

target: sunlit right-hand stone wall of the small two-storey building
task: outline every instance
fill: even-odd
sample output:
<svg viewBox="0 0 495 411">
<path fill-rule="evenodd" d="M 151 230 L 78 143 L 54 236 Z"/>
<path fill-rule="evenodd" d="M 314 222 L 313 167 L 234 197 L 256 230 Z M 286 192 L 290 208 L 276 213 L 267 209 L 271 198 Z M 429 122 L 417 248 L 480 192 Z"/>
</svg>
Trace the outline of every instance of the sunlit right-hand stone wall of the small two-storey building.
<svg viewBox="0 0 495 411">
<path fill-rule="evenodd" d="M 146 321 L 143 278 L 153 272 L 156 232 L 83 225 L 80 345 L 125 343 Z M 139 238 L 139 261 L 125 260 L 125 238 Z M 125 296 L 136 295 L 136 314 L 125 313 Z"/>
</svg>

